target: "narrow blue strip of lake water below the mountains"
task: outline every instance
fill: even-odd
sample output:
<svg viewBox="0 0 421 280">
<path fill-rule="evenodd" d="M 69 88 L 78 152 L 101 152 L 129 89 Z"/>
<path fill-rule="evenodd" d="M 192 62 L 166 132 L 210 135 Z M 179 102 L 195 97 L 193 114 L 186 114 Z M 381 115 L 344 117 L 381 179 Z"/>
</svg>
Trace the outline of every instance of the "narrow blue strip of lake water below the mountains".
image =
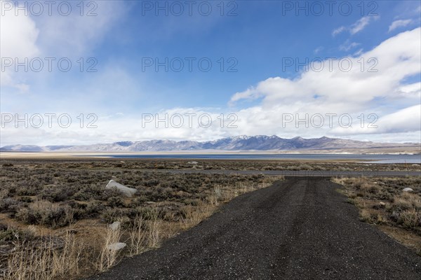
<svg viewBox="0 0 421 280">
<path fill-rule="evenodd" d="M 110 158 L 198 159 L 198 160 L 370 160 L 373 163 L 420 164 L 421 155 L 348 155 L 348 154 L 168 154 L 168 155 L 95 155 Z"/>
</svg>

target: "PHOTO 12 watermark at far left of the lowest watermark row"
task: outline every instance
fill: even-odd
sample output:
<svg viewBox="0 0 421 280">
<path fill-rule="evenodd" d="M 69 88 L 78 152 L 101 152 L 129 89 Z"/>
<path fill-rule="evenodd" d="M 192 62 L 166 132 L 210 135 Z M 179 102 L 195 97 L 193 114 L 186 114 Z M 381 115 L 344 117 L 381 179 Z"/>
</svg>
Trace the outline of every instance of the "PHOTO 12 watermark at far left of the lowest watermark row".
<svg viewBox="0 0 421 280">
<path fill-rule="evenodd" d="M 98 128 L 95 113 L 1 113 L 1 128 Z"/>
</svg>

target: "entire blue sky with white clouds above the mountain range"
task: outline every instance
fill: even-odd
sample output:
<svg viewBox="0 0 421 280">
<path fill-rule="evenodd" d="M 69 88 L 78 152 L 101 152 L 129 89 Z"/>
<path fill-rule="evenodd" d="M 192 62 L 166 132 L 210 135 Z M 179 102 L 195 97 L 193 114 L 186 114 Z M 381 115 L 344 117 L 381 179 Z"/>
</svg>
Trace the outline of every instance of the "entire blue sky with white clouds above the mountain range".
<svg viewBox="0 0 421 280">
<path fill-rule="evenodd" d="M 42 2 L 42 1 L 41 1 Z M 59 3 L 62 1 L 58 1 Z M 72 2 L 72 1 L 68 1 Z M 335 1 L 331 15 L 312 1 L 196 1 L 192 15 L 185 1 L 159 1 L 168 5 L 156 12 L 156 1 L 72 2 L 72 13 L 28 15 L 11 1 L 1 1 L 1 58 L 68 57 L 72 70 L 51 72 L 1 71 L 1 144 L 88 144 L 142 139 L 209 140 L 239 134 L 276 134 L 280 137 L 343 137 L 372 141 L 420 141 L 419 1 Z M 14 3 L 14 1 L 13 1 Z M 21 6 L 28 2 L 20 1 Z M 182 15 L 174 15 L 181 3 Z M 221 5 L 222 3 L 222 5 Z M 199 11 L 199 5 L 203 10 Z M 212 11 L 206 13 L 207 7 Z M 224 10 L 221 10 L 221 6 Z M 347 7 L 352 11 L 347 13 Z M 342 7 L 342 9 L 340 9 Z M 363 10 L 361 8 L 363 7 Z M 45 7 L 44 7 L 45 8 Z M 95 16 L 86 13 L 94 8 Z M 152 9 L 149 9 L 152 8 Z M 290 9 L 292 8 L 292 10 Z M 314 8 L 314 9 L 312 9 Z M 232 10 L 232 16 L 227 13 Z M 204 12 L 203 12 L 204 11 Z M 222 13 L 222 15 L 221 15 Z M 87 59 L 98 64 L 87 72 Z M 188 71 L 187 57 L 192 57 Z M 225 69 L 220 70 L 221 57 Z M 84 62 L 79 71 L 78 59 Z M 155 71 L 145 62 L 175 59 L 185 62 Z M 198 61 L 212 62 L 200 71 Z M 328 58 L 350 59 L 345 73 Z M 393 60 L 393 59 L 394 60 Z M 146 60 L 145 60 L 146 59 Z M 286 66 L 292 59 L 293 66 Z M 321 72 L 296 71 L 295 62 L 321 59 Z M 359 60 L 362 59 L 362 60 Z M 376 59 L 377 64 L 368 62 Z M 389 61 L 390 60 L 390 61 Z M 358 62 L 360 61 L 360 62 Z M 364 70 L 357 69 L 364 62 Z M 92 60 L 91 60 L 92 62 Z M 373 61 L 371 61 L 373 62 Z M 374 62 L 373 62 L 374 63 Z M 206 65 L 206 64 L 205 64 Z M 376 73 L 367 73 L 368 66 Z M 3 65 L 4 66 L 4 65 Z M 227 71 L 233 66 L 236 71 Z M 393 66 L 393 67 L 392 67 Z M 142 69 L 144 68 L 144 69 Z M 342 72 L 342 73 L 341 73 Z M 209 113 L 214 123 L 220 113 L 237 116 L 236 128 L 142 127 L 142 114 Z M 67 113 L 75 123 L 80 113 L 98 116 L 95 129 L 58 125 L 22 127 L 15 114 Z M 326 113 L 349 114 L 354 124 L 361 113 L 377 116 L 377 129 L 366 127 L 309 127 L 295 122 L 283 127 L 286 116 Z M 415 115 L 414 115 L 415 113 Z M 156 115 L 154 115 L 156 116 Z M 171 116 L 171 115 L 170 115 Z M 18 127 L 16 127 L 18 126 Z M 109 131 L 113 131 L 109 135 Z"/>
</svg>

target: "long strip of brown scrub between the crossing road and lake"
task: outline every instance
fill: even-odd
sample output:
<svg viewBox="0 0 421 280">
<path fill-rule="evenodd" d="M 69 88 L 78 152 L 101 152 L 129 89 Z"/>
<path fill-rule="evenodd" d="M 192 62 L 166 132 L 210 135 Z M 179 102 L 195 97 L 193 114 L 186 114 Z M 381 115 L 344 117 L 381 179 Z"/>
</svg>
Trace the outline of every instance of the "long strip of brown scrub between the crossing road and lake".
<svg viewBox="0 0 421 280">
<path fill-rule="evenodd" d="M 40 163 L 48 164 L 51 160 L 19 159 L 19 160 L 1 160 L 2 165 L 29 165 L 36 168 Z M 112 159 L 112 158 L 87 158 L 87 159 L 63 159 L 55 160 L 60 162 L 61 168 L 83 168 L 83 169 L 121 169 L 139 170 L 139 169 L 198 169 L 198 170 L 285 170 L 285 171 L 421 171 L 421 166 L 417 164 L 375 164 L 370 162 L 356 161 L 312 161 L 312 160 L 187 160 L 187 159 Z"/>
</svg>

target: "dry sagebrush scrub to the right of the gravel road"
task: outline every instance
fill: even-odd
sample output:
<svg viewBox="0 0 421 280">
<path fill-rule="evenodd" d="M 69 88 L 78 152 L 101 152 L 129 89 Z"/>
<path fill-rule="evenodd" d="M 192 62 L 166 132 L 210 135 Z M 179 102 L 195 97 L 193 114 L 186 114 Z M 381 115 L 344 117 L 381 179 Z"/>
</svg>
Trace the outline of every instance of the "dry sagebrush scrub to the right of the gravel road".
<svg viewBox="0 0 421 280">
<path fill-rule="evenodd" d="M 421 255 L 421 178 L 335 178 L 348 202 L 359 208 L 361 221 Z M 403 191 L 411 188 L 412 191 Z"/>
</svg>

